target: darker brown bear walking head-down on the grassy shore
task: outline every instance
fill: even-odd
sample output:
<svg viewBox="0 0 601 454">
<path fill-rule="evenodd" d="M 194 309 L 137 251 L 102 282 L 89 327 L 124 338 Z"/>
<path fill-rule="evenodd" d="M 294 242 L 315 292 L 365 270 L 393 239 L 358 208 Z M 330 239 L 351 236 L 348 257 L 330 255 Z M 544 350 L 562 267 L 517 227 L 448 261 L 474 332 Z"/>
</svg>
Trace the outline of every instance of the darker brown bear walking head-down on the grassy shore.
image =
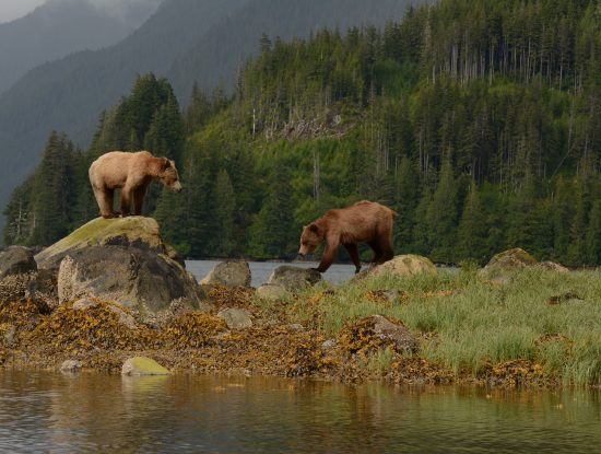
<svg viewBox="0 0 601 454">
<path fill-rule="evenodd" d="M 355 273 L 361 270 L 357 243 L 367 243 L 374 249 L 374 263 L 390 260 L 392 251 L 392 220 L 394 211 L 369 200 L 357 201 L 349 208 L 329 210 L 317 221 L 305 225 L 300 235 L 298 255 L 313 254 L 326 240 L 326 251 L 317 270 L 325 272 L 334 261 L 338 246 L 343 245 L 353 264 Z"/>
</svg>

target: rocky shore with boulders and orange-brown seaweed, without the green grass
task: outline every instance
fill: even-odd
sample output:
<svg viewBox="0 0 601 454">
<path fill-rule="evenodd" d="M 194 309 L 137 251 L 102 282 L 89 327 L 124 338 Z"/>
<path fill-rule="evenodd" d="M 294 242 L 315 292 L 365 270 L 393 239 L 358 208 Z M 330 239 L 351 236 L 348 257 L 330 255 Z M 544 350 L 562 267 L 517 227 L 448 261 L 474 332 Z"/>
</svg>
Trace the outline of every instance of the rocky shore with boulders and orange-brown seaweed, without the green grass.
<svg viewBox="0 0 601 454">
<path fill-rule="evenodd" d="M 396 257 L 340 288 L 321 282 L 316 271 L 283 266 L 268 284 L 252 289 L 245 263 L 222 264 L 197 283 L 151 221 L 95 220 L 35 259 L 24 248 L 2 253 L 0 368 L 121 373 L 128 359 L 145 357 L 170 373 L 562 384 L 557 373 L 528 356 L 491 358 L 470 370 L 433 360 L 432 351 L 429 358 L 424 354 L 439 344 L 436 329 L 381 313 L 402 309 L 414 294 L 427 303 L 461 291 L 453 290 L 457 282 L 446 281 L 449 290 L 432 295 L 411 290 L 411 279 L 439 279 L 425 257 Z M 516 269 L 528 267 L 568 272 L 516 249 L 496 256 L 473 279 L 496 291 Z M 369 309 L 337 318 L 334 304 L 352 311 L 353 292 Z M 370 307 L 374 312 L 366 313 Z"/>
</svg>

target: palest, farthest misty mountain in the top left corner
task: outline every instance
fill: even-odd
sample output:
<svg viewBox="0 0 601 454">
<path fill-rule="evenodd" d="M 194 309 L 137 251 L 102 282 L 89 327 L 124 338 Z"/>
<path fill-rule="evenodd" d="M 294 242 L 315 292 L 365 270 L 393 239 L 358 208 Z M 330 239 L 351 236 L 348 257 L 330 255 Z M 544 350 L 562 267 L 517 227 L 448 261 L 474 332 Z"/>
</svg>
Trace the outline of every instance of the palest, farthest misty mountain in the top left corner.
<svg viewBox="0 0 601 454">
<path fill-rule="evenodd" d="M 73 51 L 118 43 L 138 28 L 160 0 L 127 0 L 119 10 L 92 0 L 50 0 L 30 14 L 0 24 L 0 93 L 30 69 Z"/>
</svg>

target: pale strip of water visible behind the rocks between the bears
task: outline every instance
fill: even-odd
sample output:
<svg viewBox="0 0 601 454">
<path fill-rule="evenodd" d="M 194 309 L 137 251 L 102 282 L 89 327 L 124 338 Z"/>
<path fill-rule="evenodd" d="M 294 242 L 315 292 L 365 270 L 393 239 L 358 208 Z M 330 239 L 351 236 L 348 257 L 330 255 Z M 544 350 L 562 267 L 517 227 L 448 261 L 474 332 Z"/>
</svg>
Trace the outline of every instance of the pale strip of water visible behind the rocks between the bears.
<svg viewBox="0 0 601 454">
<path fill-rule="evenodd" d="M 186 269 L 190 271 L 197 279 L 202 279 L 211 271 L 221 260 L 186 260 Z M 293 264 L 284 264 L 281 261 L 249 261 L 251 286 L 259 287 L 267 282 L 273 270 L 282 265 L 293 265 L 300 268 L 317 268 L 319 265 L 316 261 L 299 261 Z M 330 283 L 342 283 L 355 276 L 354 265 L 332 265 L 323 275 Z"/>
</svg>

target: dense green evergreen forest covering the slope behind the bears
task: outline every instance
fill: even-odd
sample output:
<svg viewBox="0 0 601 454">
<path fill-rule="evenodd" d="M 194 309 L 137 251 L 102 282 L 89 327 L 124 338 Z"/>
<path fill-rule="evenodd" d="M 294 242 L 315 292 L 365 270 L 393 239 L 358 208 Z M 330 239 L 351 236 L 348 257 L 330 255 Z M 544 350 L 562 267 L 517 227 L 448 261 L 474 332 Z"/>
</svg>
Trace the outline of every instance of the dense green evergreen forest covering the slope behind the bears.
<svg viewBox="0 0 601 454">
<path fill-rule="evenodd" d="M 304 224 L 369 199 L 399 213 L 397 254 L 599 265 L 601 1 L 441 0 L 381 28 L 266 35 L 233 92 L 185 106 L 140 75 L 89 149 L 50 133 L 4 242 L 95 218 L 91 162 L 141 149 L 177 163 L 184 191 L 153 185 L 144 212 L 186 257 L 292 258 Z"/>
</svg>

